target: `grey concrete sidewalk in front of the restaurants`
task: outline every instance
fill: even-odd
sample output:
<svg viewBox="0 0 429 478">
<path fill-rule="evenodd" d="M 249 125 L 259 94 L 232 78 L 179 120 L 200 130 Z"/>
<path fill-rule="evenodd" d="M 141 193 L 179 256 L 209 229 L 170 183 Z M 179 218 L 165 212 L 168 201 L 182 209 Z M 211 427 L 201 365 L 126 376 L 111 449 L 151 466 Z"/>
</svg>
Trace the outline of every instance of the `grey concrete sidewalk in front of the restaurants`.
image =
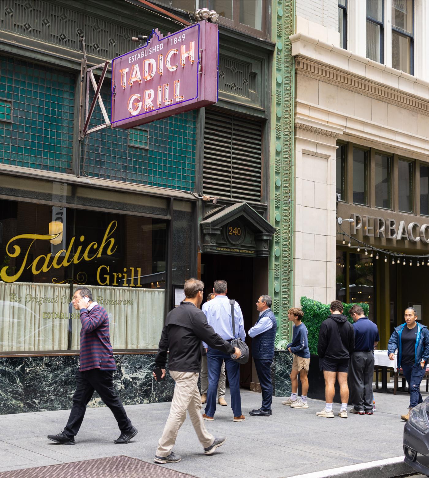
<svg viewBox="0 0 429 478">
<path fill-rule="evenodd" d="M 252 417 L 248 413 L 260 407 L 261 394 L 242 390 L 245 422 L 232 422 L 230 406 L 218 406 L 215 421 L 205 422 L 213 435 L 227 436 L 225 445 L 205 456 L 187 417 L 174 447 L 182 461 L 160 466 L 199 478 L 283 478 L 402 456 L 400 415 L 406 412 L 409 396 L 374 393 L 374 398 L 374 415 L 349 413 L 347 420 L 337 416 L 338 404 L 335 419 L 327 419 L 315 415 L 324 402 L 309 400 L 308 409 L 297 410 L 282 405 L 281 397 L 274 397 L 271 417 Z M 229 404 L 229 394 L 226 400 Z M 106 407 L 87 410 L 76 445 L 71 446 L 46 438 L 64 429 L 67 410 L 0 415 L 0 472 L 117 455 L 153 463 L 170 403 L 125 408 L 139 430 L 128 445 L 113 443 L 120 432 Z"/>
</svg>

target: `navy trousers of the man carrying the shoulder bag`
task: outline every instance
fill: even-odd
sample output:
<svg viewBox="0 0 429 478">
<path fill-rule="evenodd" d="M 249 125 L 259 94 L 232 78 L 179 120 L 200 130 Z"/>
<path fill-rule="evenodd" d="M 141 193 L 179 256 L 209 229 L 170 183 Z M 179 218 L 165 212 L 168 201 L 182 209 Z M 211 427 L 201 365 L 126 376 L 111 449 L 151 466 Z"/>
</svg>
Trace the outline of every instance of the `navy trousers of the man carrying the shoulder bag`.
<svg viewBox="0 0 429 478">
<path fill-rule="evenodd" d="M 235 417 L 242 415 L 242 400 L 240 396 L 240 364 L 231 359 L 231 356 L 214 348 L 207 350 L 207 372 L 209 375 L 209 390 L 207 391 L 206 415 L 214 416 L 218 401 L 218 384 L 222 361 L 225 361 L 225 370 L 230 382 L 231 408 Z"/>
</svg>

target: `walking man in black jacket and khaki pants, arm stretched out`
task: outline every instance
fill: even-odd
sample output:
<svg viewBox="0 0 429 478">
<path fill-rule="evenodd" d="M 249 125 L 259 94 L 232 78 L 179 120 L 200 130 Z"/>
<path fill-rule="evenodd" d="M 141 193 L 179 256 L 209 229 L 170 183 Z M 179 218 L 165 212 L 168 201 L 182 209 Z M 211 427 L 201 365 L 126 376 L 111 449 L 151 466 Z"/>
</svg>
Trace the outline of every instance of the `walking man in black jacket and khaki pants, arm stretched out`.
<svg viewBox="0 0 429 478">
<path fill-rule="evenodd" d="M 204 312 L 198 308 L 203 300 L 204 283 L 189 279 L 184 288 L 186 299 L 168 313 L 155 358 L 156 366 L 161 367 L 161 377 L 164 378 L 169 350 L 168 368 L 176 382 L 170 414 L 156 449 L 155 463 L 177 463 L 181 460 L 171 450 L 187 411 L 206 455 L 211 455 L 218 446 L 225 443 L 226 437 L 215 438 L 206 430 L 200 413 L 201 396 L 197 382 L 201 370 L 201 342 L 226 354 L 234 354 L 236 359 L 241 355 L 240 350 L 232 347 L 231 342 L 216 334 L 207 323 Z"/>
</svg>

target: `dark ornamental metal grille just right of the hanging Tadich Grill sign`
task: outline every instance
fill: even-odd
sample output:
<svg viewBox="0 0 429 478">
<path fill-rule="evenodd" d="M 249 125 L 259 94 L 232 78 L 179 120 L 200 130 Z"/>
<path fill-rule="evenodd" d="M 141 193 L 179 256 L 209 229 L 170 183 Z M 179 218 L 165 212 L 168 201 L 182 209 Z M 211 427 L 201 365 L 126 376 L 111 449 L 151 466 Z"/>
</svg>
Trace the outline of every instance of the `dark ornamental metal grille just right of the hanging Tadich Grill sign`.
<svg viewBox="0 0 429 478">
<path fill-rule="evenodd" d="M 219 89 L 227 93 L 250 98 L 256 94 L 256 73 L 251 72 L 252 65 L 230 60 L 224 56 L 219 61 Z"/>
</svg>

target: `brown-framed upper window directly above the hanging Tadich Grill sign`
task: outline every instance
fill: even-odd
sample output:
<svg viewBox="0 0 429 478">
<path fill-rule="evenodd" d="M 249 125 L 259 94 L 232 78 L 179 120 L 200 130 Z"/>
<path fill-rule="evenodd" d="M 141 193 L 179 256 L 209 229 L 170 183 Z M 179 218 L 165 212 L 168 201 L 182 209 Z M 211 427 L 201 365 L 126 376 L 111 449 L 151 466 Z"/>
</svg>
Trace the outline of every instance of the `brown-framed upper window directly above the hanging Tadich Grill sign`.
<svg viewBox="0 0 429 478">
<path fill-rule="evenodd" d="M 218 13 L 220 25 L 244 30 L 248 33 L 266 33 L 266 8 L 269 2 L 262 0 L 157 0 L 189 12 L 191 15 L 200 8 L 208 8 Z"/>
</svg>

